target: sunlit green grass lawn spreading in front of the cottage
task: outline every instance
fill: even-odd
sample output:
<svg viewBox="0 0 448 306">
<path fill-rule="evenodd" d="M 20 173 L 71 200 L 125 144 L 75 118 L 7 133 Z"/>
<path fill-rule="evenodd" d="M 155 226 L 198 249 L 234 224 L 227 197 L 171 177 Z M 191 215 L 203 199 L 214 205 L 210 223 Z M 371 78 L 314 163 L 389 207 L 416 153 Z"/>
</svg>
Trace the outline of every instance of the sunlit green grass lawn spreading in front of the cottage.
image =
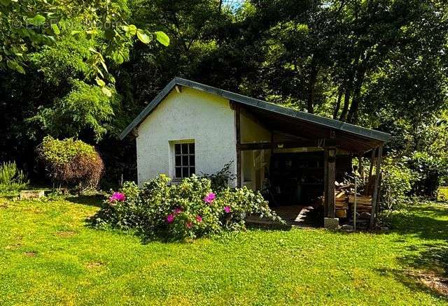
<svg viewBox="0 0 448 306">
<path fill-rule="evenodd" d="M 0 305 L 437 305 L 448 212 L 415 207 L 388 234 L 251 230 L 191 243 L 97 231 L 95 201 L 0 198 Z"/>
</svg>

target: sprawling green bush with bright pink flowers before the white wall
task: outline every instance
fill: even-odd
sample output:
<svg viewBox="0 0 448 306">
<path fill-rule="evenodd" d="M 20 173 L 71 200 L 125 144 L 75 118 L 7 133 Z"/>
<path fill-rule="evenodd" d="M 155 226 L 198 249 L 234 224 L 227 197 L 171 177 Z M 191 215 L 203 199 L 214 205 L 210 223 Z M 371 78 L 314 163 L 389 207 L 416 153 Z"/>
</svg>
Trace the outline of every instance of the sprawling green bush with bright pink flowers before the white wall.
<svg viewBox="0 0 448 306">
<path fill-rule="evenodd" d="M 184 240 L 244 230 L 248 214 L 281 221 L 259 193 L 243 187 L 215 194 L 210 186 L 210 180 L 195 175 L 177 185 L 160 175 L 141 189 L 126 182 L 120 192 L 104 201 L 94 223 L 136 229 L 150 240 Z"/>
</svg>

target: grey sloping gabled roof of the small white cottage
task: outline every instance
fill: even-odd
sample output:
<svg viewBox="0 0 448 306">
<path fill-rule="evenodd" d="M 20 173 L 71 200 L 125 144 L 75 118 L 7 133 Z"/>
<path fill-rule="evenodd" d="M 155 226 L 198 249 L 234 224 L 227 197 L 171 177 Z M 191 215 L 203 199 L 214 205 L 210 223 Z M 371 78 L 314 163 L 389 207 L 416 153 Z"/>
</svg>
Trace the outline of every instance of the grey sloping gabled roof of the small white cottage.
<svg viewBox="0 0 448 306">
<path fill-rule="evenodd" d="M 157 105 L 169 94 L 169 92 L 174 89 L 176 85 L 181 85 L 183 87 L 190 87 L 193 89 L 200 90 L 202 92 L 207 92 L 209 94 L 216 94 L 217 96 L 222 96 L 225 99 L 246 105 L 257 112 L 269 113 L 268 115 L 280 115 L 283 118 L 292 119 L 294 121 L 305 122 L 313 124 L 316 126 L 322 126 L 333 131 L 342 131 L 344 133 L 351 134 L 353 136 L 359 136 L 363 139 L 374 140 L 377 143 L 387 142 L 391 135 L 388 133 L 383 133 L 381 131 L 375 131 L 372 129 L 366 129 L 362 126 L 356 126 L 353 124 L 348 124 L 346 122 L 341 122 L 335 119 L 330 119 L 326 117 L 321 117 L 318 115 L 313 115 L 308 112 L 300 112 L 298 110 L 293 110 L 291 108 L 285 108 L 273 103 L 266 101 L 253 99 L 248 96 L 243 96 L 241 94 L 235 94 L 235 92 L 228 92 L 223 89 L 218 89 L 216 87 L 211 87 L 208 85 L 200 84 L 183 78 L 174 78 L 171 82 L 165 86 L 164 89 L 149 103 L 144 110 L 129 124 L 126 129 L 120 134 L 120 139 L 124 139 L 132 129 L 136 128 L 141 124 L 141 122 L 151 114 Z"/>
</svg>

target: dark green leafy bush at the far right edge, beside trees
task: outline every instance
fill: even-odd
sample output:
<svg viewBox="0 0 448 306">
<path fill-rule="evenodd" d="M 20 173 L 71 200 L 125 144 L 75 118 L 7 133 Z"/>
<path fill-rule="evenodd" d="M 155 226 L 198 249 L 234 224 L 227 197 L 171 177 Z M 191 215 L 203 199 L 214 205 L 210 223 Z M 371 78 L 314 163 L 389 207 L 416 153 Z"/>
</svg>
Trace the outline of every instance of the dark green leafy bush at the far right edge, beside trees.
<svg viewBox="0 0 448 306">
<path fill-rule="evenodd" d="M 407 164 L 416 173 L 412 194 L 436 200 L 442 177 L 448 173 L 447 161 L 426 152 L 414 152 Z"/>
</svg>

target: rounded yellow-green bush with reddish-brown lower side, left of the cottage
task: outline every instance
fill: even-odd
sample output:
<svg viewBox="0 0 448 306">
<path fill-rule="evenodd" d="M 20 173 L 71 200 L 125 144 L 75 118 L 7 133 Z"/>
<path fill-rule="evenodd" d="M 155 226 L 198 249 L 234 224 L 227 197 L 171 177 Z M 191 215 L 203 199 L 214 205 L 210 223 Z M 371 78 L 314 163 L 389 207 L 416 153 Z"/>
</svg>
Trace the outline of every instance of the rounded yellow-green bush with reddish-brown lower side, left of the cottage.
<svg viewBox="0 0 448 306">
<path fill-rule="evenodd" d="M 77 186 L 80 191 L 97 187 L 104 170 L 94 147 L 73 138 L 57 140 L 47 136 L 38 154 L 55 182 Z"/>
</svg>

